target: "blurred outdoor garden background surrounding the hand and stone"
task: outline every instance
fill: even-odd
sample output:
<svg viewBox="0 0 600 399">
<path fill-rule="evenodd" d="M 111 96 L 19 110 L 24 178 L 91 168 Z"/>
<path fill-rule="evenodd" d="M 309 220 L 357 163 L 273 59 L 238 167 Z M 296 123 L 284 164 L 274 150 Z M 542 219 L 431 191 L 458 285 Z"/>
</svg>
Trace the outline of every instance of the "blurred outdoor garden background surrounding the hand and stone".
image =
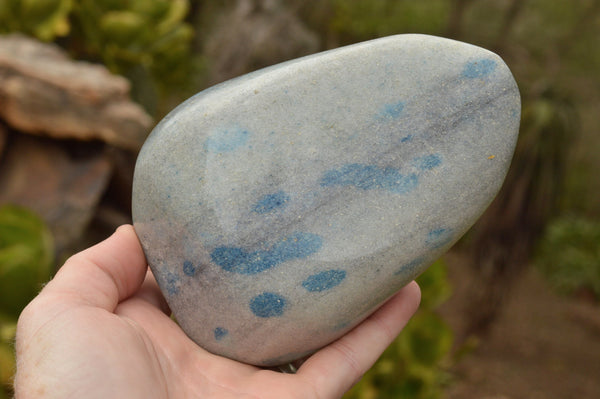
<svg viewBox="0 0 600 399">
<path fill-rule="evenodd" d="M 223 80 L 400 33 L 500 54 L 521 132 L 502 191 L 347 398 L 599 398 L 600 0 L 0 0 L 0 398 L 20 310 L 130 222 L 155 123 Z"/>
</svg>

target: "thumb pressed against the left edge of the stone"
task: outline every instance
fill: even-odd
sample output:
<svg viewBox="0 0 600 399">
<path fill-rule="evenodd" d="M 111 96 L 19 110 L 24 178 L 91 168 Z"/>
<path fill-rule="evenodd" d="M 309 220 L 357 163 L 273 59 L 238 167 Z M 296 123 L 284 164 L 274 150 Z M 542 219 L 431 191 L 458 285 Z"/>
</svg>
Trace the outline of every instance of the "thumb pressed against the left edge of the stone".
<svg viewBox="0 0 600 399">
<path fill-rule="evenodd" d="M 60 295 L 71 303 L 112 312 L 140 288 L 146 270 L 133 226 L 125 225 L 101 243 L 69 258 L 42 295 Z"/>
</svg>

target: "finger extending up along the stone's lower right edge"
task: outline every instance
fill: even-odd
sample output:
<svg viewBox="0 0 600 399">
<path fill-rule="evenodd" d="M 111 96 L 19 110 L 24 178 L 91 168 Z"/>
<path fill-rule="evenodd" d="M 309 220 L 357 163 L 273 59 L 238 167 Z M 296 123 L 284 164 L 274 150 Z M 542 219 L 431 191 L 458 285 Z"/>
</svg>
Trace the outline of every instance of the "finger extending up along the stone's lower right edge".
<svg viewBox="0 0 600 399">
<path fill-rule="evenodd" d="M 420 300 L 421 291 L 413 281 L 354 330 L 310 357 L 297 375 L 314 387 L 318 397 L 341 397 L 392 343 Z"/>
</svg>

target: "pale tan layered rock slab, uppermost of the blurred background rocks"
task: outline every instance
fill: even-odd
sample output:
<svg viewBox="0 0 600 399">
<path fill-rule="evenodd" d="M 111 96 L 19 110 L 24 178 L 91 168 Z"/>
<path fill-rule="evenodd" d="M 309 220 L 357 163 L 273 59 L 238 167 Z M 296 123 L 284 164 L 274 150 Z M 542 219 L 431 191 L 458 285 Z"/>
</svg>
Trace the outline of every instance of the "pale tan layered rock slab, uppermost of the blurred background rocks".
<svg viewBox="0 0 600 399">
<path fill-rule="evenodd" d="M 123 77 L 72 61 L 54 45 L 0 38 L 0 117 L 21 132 L 137 150 L 152 119 L 129 100 L 129 88 Z"/>
</svg>

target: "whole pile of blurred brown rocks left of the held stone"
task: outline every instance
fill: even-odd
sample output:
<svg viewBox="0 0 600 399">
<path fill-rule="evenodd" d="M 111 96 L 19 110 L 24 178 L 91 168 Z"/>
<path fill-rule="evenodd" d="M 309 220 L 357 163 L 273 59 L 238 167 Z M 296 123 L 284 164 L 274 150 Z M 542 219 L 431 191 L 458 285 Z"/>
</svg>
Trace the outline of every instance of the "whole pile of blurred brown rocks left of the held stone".
<svg viewBox="0 0 600 399">
<path fill-rule="evenodd" d="M 59 258 L 130 220 L 133 165 L 153 121 L 129 91 L 54 45 L 0 37 L 0 204 L 38 213 Z"/>
</svg>

